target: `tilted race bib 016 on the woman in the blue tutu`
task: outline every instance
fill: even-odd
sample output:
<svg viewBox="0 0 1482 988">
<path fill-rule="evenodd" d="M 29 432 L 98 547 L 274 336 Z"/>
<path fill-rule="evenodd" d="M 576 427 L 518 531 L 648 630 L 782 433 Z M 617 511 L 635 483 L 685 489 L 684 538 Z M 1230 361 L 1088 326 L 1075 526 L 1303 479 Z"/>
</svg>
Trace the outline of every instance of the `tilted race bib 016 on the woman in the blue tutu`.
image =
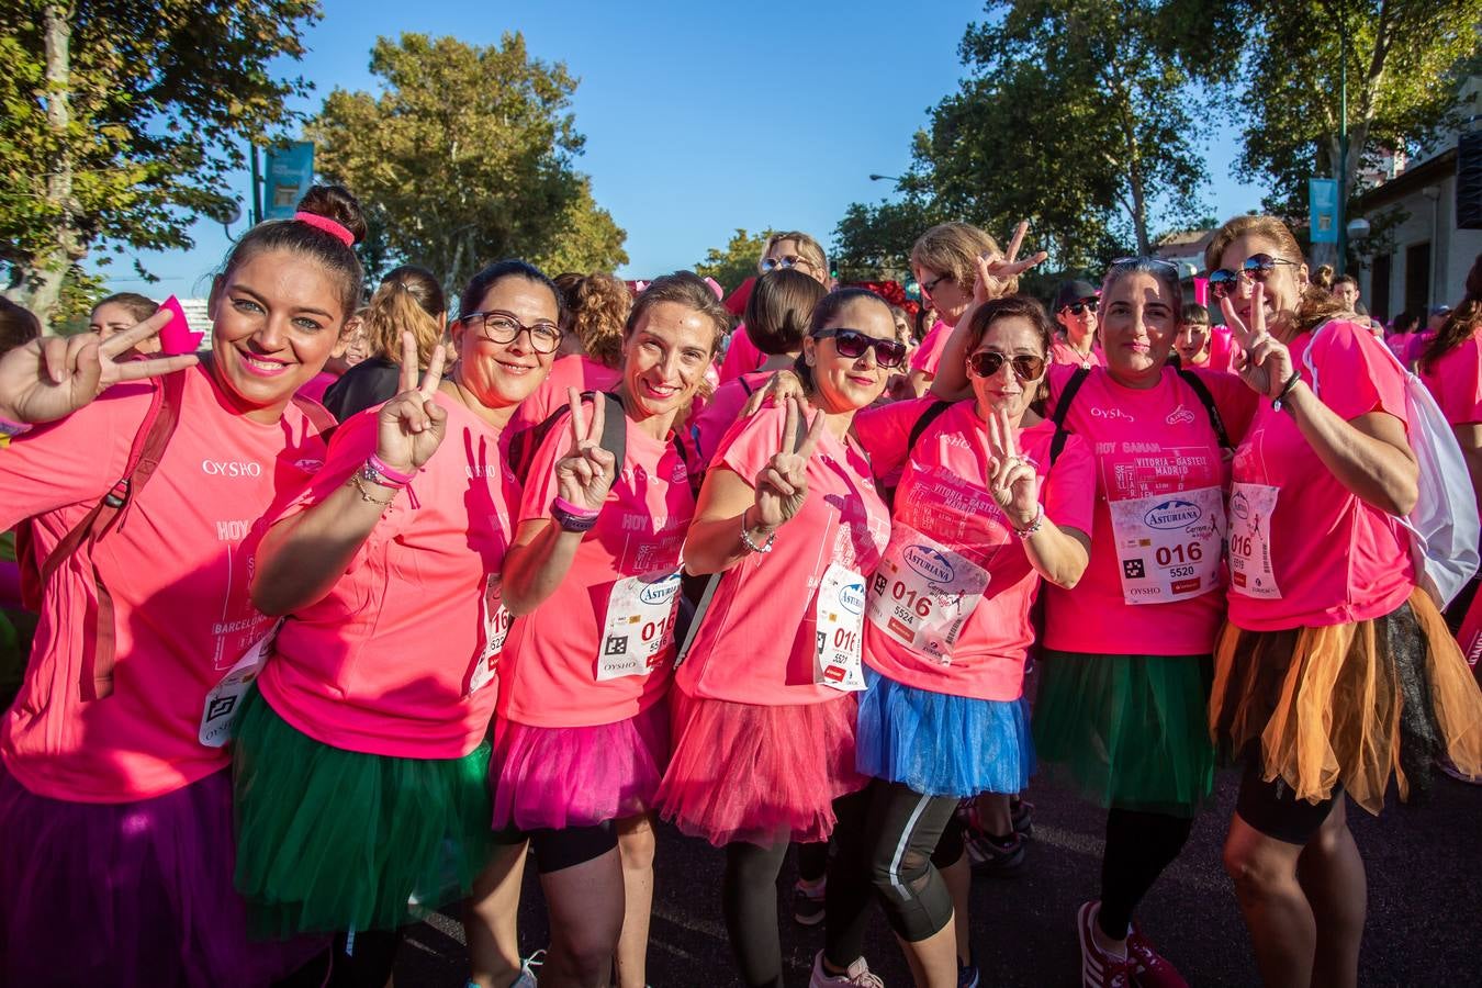
<svg viewBox="0 0 1482 988">
<path fill-rule="evenodd" d="M 988 588 L 988 572 L 908 524 L 895 523 L 891 545 L 870 578 L 870 622 L 911 652 L 941 665 Z"/>
</svg>

